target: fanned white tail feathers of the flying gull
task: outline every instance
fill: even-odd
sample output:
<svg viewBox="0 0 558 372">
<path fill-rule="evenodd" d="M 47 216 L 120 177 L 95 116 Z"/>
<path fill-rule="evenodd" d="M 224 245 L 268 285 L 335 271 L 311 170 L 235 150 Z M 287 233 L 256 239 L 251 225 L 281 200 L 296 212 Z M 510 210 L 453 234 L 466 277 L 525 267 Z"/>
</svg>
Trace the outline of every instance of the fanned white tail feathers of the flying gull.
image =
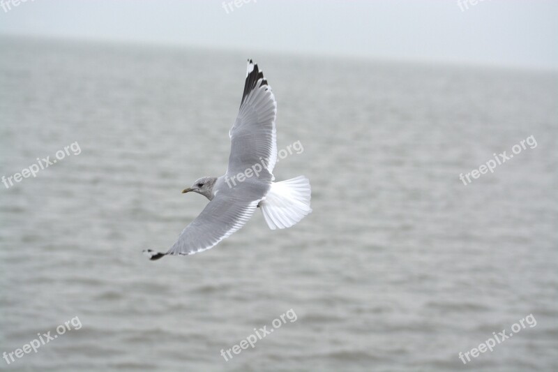
<svg viewBox="0 0 558 372">
<path fill-rule="evenodd" d="M 312 211 L 310 181 L 304 176 L 273 182 L 259 203 L 271 230 L 290 228 Z"/>
</svg>

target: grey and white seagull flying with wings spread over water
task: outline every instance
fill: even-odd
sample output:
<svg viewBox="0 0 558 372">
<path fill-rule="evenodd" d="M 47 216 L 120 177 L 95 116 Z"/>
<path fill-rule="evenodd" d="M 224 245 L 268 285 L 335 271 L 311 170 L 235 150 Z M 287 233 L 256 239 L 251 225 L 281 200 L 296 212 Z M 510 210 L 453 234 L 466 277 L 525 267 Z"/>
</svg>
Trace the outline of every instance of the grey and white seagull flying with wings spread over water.
<svg viewBox="0 0 558 372">
<path fill-rule="evenodd" d="M 150 260 L 213 248 L 242 228 L 258 207 L 271 230 L 290 228 L 310 214 L 311 190 L 306 177 L 273 182 L 276 114 L 273 91 L 264 73 L 249 59 L 239 113 L 229 131 L 227 172 L 221 177 L 197 179 L 182 191 L 204 195 L 209 203 L 166 253 L 145 250 Z"/>
</svg>

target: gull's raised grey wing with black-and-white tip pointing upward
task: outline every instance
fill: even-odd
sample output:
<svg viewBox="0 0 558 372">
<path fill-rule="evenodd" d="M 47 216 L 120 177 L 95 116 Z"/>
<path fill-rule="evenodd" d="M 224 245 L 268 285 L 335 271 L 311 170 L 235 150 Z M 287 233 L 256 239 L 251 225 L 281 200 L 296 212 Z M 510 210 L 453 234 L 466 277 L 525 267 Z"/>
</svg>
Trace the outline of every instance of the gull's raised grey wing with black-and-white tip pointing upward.
<svg viewBox="0 0 558 372">
<path fill-rule="evenodd" d="M 229 131 L 229 177 L 260 164 L 264 170 L 257 178 L 273 180 L 273 167 L 277 161 L 276 114 L 277 103 L 271 87 L 264 73 L 250 59 L 239 114 Z"/>
</svg>

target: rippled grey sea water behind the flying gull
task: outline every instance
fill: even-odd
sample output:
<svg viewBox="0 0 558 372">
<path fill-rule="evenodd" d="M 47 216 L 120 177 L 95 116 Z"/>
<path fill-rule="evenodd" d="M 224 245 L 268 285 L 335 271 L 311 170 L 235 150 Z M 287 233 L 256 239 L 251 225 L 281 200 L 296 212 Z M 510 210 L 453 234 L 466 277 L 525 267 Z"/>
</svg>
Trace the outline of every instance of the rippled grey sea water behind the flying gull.
<svg viewBox="0 0 558 372">
<path fill-rule="evenodd" d="M 557 73 L 0 50 L 1 370 L 558 370 Z M 306 175 L 313 212 L 271 231 L 257 211 L 209 251 L 149 261 L 207 202 L 182 189 L 227 168 L 247 57 L 278 149 L 301 144 L 276 179 Z"/>
</svg>

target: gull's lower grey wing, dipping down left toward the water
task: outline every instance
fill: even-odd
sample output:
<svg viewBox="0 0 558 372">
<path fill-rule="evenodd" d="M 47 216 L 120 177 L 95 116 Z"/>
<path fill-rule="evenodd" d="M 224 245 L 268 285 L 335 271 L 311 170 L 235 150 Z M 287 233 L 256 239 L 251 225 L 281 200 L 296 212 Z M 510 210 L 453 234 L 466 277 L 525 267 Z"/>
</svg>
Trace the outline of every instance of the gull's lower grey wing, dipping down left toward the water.
<svg viewBox="0 0 558 372">
<path fill-rule="evenodd" d="M 158 260 L 164 255 L 193 255 L 213 248 L 248 222 L 268 190 L 268 184 L 257 180 L 242 182 L 234 188 L 223 185 L 202 213 L 182 230 L 167 253 L 151 249 L 144 252 L 151 260 Z"/>
</svg>

